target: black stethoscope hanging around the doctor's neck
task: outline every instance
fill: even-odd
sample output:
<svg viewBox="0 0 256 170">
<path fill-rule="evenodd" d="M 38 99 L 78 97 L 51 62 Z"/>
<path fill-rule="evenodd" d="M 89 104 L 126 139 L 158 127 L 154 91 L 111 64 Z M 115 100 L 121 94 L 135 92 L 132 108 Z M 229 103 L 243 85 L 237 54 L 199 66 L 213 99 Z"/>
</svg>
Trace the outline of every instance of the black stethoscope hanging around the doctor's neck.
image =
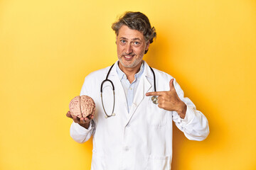
<svg viewBox="0 0 256 170">
<path fill-rule="evenodd" d="M 114 66 L 114 64 L 112 64 L 112 66 L 110 67 L 110 70 L 107 72 L 107 77 L 109 76 L 110 71 L 111 71 L 111 69 L 112 69 L 113 66 Z M 154 91 L 156 91 L 156 77 L 155 77 L 155 74 L 154 74 L 154 70 L 153 70 L 151 67 L 149 67 L 149 68 L 151 69 L 151 72 L 153 73 L 153 77 L 154 77 Z M 110 81 L 110 83 L 111 83 L 111 85 L 112 85 L 113 96 L 114 96 L 114 84 L 113 84 L 113 82 L 112 82 L 110 79 L 107 79 L 107 77 L 106 77 L 105 80 L 102 81 L 102 84 L 101 84 L 101 86 L 100 86 L 100 97 L 101 97 L 101 99 L 102 99 L 102 86 L 103 86 L 103 84 L 104 84 L 106 81 Z M 115 100 L 114 100 L 114 101 L 115 101 Z M 151 97 L 151 101 L 152 101 L 154 104 L 158 104 L 158 103 L 157 103 L 157 101 L 158 101 L 157 96 L 152 96 L 152 97 Z M 111 115 L 108 115 L 107 112 L 105 111 L 105 107 L 104 107 L 104 104 L 103 104 L 103 99 L 102 99 L 102 107 L 103 107 L 103 110 L 104 110 L 105 115 L 106 115 L 105 118 L 110 118 L 111 116 L 114 116 L 114 115 L 115 115 L 115 113 L 114 113 L 114 104 L 113 104 L 113 109 L 112 109 Z"/>
</svg>

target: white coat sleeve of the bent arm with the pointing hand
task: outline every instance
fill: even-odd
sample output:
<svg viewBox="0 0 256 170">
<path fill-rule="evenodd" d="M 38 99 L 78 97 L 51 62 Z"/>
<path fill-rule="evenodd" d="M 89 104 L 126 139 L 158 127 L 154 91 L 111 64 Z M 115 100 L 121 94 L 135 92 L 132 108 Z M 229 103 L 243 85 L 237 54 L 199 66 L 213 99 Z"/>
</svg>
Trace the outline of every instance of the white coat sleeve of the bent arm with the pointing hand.
<svg viewBox="0 0 256 170">
<path fill-rule="evenodd" d="M 189 98 L 184 97 L 183 90 L 174 81 L 174 87 L 178 94 L 178 97 L 181 98 L 181 101 L 186 103 L 186 116 L 182 119 L 178 113 L 173 112 L 173 120 L 178 129 L 180 129 L 188 140 L 205 140 L 209 134 L 208 120 L 203 113 L 196 110 L 196 106 Z"/>
</svg>

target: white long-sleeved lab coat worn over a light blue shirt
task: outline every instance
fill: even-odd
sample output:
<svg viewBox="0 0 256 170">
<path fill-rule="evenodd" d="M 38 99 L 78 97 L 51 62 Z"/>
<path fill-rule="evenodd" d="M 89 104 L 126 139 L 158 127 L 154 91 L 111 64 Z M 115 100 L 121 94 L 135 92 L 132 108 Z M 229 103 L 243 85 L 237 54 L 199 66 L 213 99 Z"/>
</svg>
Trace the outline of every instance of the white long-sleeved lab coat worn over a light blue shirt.
<svg viewBox="0 0 256 170">
<path fill-rule="evenodd" d="M 144 73 L 128 113 L 126 96 L 117 75 L 117 62 L 109 79 L 115 88 L 115 116 L 105 118 L 100 98 L 100 85 L 110 67 L 92 72 L 85 78 L 80 95 L 93 98 L 96 113 L 90 128 L 77 123 L 70 128 L 76 142 L 86 142 L 93 137 L 92 170 L 167 170 L 171 169 L 172 120 L 189 140 L 204 140 L 209 133 L 208 120 L 189 98 L 184 98 L 181 87 L 174 81 L 178 97 L 186 103 L 186 117 L 181 119 L 175 111 L 165 111 L 152 103 L 146 92 L 154 91 L 153 74 L 144 62 Z M 154 69 L 156 90 L 169 91 L 169 74 Z M 110 83 L 103 86 L 103 99 L 108 114 L 112 113 L 113 94 Z"/>
</svg>

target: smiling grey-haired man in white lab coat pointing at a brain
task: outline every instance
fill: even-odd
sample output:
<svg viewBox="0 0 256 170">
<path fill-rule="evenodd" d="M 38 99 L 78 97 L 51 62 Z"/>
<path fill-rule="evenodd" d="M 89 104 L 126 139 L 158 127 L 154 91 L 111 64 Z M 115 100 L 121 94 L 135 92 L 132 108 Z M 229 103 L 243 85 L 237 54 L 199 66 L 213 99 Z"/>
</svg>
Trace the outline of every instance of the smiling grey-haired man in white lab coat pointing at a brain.
<svg viewBox="0 0 256 170">
<path fill-rule="evenodd" d="M 156 37 L 149 19 L 139 12 L 127 12 L 113 23 L 118 61 L 85 77 L 80 95 L 93 98 L 94 116 L 72 117 L 70 135 L 76 142 L 92 137 L 92 165 L 94 170 L 171 169 L 172 121 L 189 140 L 204 140 L 208 136 L 208 120 L 169 74 L 151 71 L 144 62 L 144 54 Z M 114 84 L 114 96 L 110 82 Z M 154 81 L 155 74 L 155 81 Z M 154 89 L 154 83 L 156 89 Z M 156 91 L 155 91 L 156 90 Z M 153 103 L 152 96 L 158 96 Z M 115 101 L 115 103 L 113 102 Z M 186 162 L 186 161 L 185 161 Z"/>
</svg>

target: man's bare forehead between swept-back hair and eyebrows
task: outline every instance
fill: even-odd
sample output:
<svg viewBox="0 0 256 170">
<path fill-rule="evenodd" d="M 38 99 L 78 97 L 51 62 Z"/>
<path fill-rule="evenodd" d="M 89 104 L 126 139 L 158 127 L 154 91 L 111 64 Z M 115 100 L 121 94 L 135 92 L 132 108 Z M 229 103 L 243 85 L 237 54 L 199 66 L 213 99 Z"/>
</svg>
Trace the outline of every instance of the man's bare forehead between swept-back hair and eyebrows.
<svg viewBox="0 0 256 170">
<path fill-rule="evenodd" d="M 117 38 L 127 38 L 127 39 L 139 38 L 140 40 L 144 40 L 144 36 L 141 32 L 139 32 L 139 30 L 132 30 L 125 25 L 119 29 Z"/>
</svg>

